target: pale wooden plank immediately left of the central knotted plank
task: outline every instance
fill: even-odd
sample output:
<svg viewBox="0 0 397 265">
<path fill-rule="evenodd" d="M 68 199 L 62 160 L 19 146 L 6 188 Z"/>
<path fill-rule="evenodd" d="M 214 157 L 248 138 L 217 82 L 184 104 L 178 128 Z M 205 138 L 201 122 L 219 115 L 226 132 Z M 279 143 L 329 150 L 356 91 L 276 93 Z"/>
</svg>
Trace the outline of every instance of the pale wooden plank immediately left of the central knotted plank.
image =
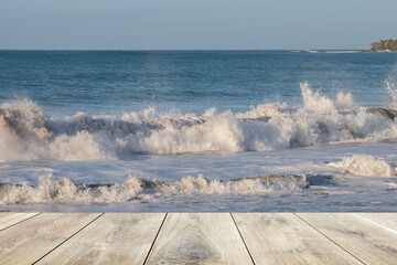
<svg viewBox="0 0 397 265">
<path fill-rule="evenodd" d="M 105 213 L 37 264 L 143 264 L 165 213 Z"/>
</svg>

